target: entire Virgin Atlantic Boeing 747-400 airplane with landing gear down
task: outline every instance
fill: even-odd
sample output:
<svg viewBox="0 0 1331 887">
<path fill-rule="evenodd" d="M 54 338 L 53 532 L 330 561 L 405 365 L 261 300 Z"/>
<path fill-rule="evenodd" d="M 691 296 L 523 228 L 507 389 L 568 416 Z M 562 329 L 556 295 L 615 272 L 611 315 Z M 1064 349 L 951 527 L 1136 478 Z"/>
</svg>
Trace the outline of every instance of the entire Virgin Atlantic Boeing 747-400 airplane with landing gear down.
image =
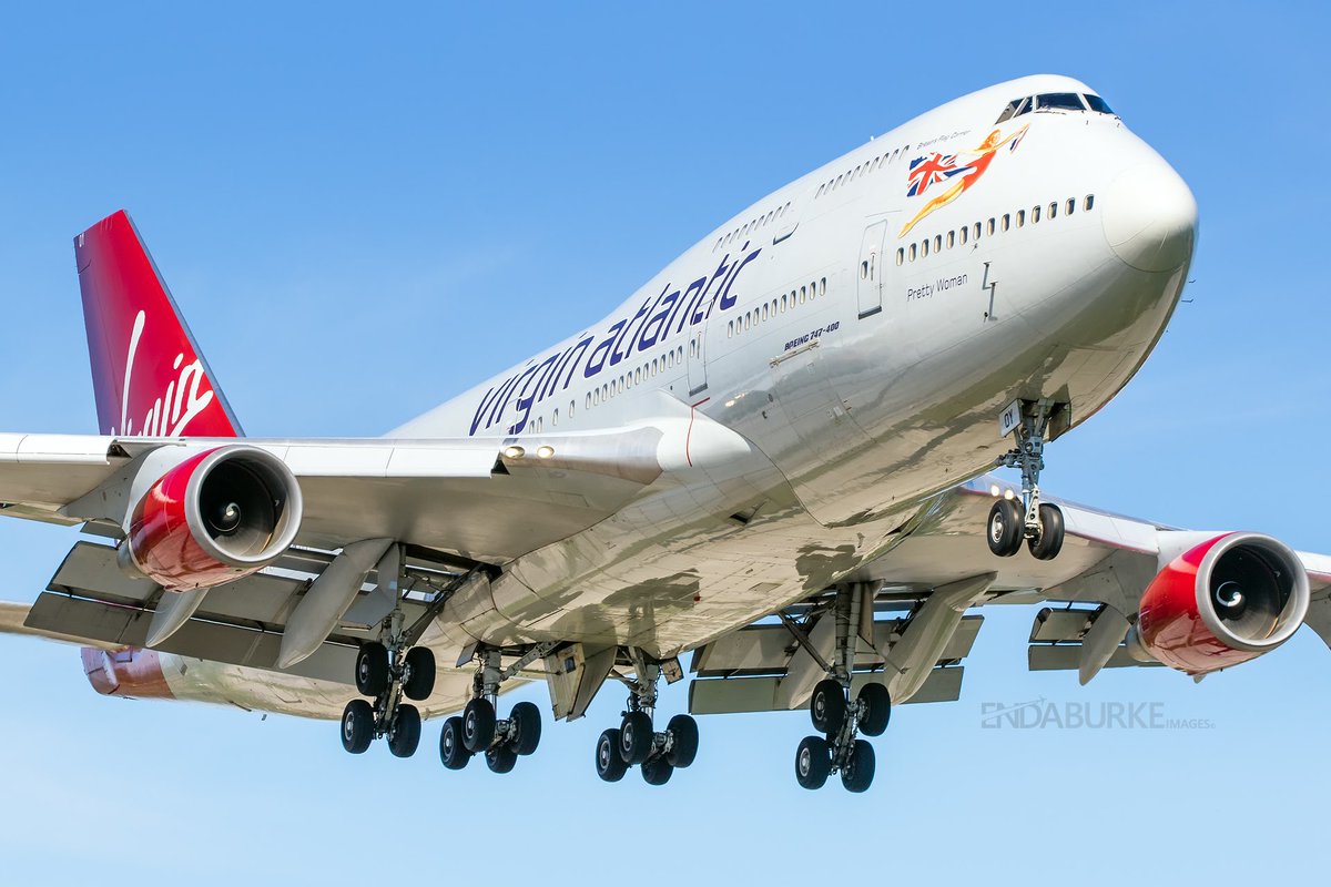
<svg viewBox="0 0 1331 887">
<path fill-rule="evenodd" d="M 904 703 L 960 698 L 989 605 L 1033 670 L 1201 680 L 1307 624 L 1331 557 L 1047 495 L 1049 444 L 1150 355 L 1197 203 L 1086 84 L 929 110 L 775 190 L 622 305 L 374 439 L 246 438 L 137 229 L 75 241 L 98 435 L 0 435 L 0 513 L 84 536 L 0 629 L 102 694 L 339 722 L 508 773 L 607 684 L 608 782 L 695 715 L 807 709 L 795 775 L 869 789 Z M 996 468 L 1014 468 L 1020 484 Z M 684 660 L 688 660 L 687 666 Z M 658 718 L 660 681 L 688 711 Z"/>
</svg>

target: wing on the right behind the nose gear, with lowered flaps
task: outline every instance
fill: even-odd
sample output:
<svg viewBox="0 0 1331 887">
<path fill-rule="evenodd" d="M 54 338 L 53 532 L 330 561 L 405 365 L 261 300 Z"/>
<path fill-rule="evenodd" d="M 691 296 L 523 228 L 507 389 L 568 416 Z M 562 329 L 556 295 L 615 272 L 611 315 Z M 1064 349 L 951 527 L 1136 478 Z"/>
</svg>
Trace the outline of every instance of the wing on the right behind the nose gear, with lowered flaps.
<svg viewBox="0 0 1331 887">
<path fill-rule="evenodd" d="M 1032 670 L 1077 670 L 1085 684 L 1103 668 L 1159 665 L 1135 657 L 1127 636 L 1142 594 L 1175 556 L 1219 533 L 1046 499 L 1066 523 L 1058 557 L 1001 559 L 984 528 L 994 497 L 1009 489 L 986 476 L 930 500 L 886 553 L 845 577 L 844 588 L 873 604 L 858 609 L 852 693 L 878 681 L 894 702 L 957 699 L 982 608 L 997 604 L 1045 604 L 1032 626 Z M 1311 592 L 1304 624 L 1331 646 L 1331 557 L 1295 555 Z M 807 705 L 836 654 L 836 601 L 837 592 L 816 596 L 697 650 L 689 709 Z"/>
</svg>

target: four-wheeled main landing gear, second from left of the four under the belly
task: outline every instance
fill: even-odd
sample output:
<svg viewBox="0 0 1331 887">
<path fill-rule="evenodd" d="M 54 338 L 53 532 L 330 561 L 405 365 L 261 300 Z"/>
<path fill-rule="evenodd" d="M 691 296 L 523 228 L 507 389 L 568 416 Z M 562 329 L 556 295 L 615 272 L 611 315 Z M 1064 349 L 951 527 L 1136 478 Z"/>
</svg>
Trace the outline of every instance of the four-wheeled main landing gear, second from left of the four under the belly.
<svg viewBox="0 0 1331 887">
<path fill-rule="evenodd" d="M 449 770 L 462 770 L 473 755 L 484 755 L 492 773 L 508 773 L 519 757 L 526 757 L 540 745 L 540 709 L 531 702 L 518 702 L 507 718 L 495 714 L 499 685 L 519 669 L 546 653 L 544 646 L 534 648 L 516 664 L 502 668 L 499 650 L 476 648 L 476 678 L 473 697 L 462 715 L 443 722 L 439 734 L 439 761 Z"/>
</svg>

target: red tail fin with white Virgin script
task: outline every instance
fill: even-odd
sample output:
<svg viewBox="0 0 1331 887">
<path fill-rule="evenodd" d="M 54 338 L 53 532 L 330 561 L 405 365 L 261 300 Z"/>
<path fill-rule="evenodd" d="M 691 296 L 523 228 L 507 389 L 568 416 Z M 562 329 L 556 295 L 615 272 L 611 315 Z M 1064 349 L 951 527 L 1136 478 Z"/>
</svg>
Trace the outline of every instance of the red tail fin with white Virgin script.
<svg viewBox="0 0 1331 887">
<path fill-rule="evenodd" d="M 125 210 L 76 237 L 75 258 L 101 434 L 241 436 Z"/>
</svg>

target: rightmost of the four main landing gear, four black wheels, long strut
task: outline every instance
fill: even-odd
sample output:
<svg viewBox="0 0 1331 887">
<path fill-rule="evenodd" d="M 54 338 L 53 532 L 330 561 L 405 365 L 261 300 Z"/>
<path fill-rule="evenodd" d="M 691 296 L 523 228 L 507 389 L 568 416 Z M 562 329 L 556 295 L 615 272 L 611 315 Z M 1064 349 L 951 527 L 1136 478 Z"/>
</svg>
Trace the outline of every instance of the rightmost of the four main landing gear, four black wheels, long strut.
<svg viewBox="0 0 1331 887">
<path fill-rule="evenodd" d="M 858 734 L 882 735 L 892 719 L 892 697 L 885 685 L 870 682 L 851 701 L 856 649 L 851 617 L 861 605 L 858 592 L 837 593 L 837 657 L 809 697 L 809 719 L 821 735 L 804 737 L 795 751 L 795 779 L 804 789 L 821 789 L 837 773 L 847 791 L 866 791 L 873 783 L 873 746 Z"/>
</svg>

